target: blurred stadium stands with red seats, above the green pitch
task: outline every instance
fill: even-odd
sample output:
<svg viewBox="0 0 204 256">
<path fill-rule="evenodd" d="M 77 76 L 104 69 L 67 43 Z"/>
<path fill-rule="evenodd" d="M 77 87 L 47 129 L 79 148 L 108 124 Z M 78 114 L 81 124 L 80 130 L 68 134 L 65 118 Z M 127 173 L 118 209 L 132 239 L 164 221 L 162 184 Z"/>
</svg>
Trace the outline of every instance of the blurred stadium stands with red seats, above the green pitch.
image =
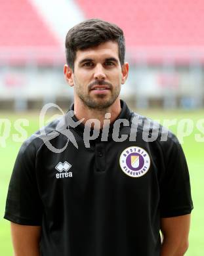
<svg viewBox="0 0 204 256">
<path fill-rule="evenodd" d="M 85 18 L 125 32 L 131 64 L 122 97 L 138 108 L 204 105 L 203 0 L 0 1 L 0 108 L 67 108 L 73 90 L 62 75 L 66 33 Z"/>
</svg>

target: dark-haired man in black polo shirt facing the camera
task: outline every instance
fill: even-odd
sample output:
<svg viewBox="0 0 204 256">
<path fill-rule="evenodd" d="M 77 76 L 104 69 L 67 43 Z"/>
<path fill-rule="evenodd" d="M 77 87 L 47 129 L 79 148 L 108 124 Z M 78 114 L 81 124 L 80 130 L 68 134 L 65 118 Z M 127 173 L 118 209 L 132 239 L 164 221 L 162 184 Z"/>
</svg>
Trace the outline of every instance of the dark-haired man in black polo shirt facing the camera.
<svg viewBox="0 0 204 256">
<path fill-rule="evenodd" d="M 172 133 L 162 140 L 160 126 L 150 142 L 153 121 L 119 99 L 129 72 L 123 31 L 86 20 L 68 32 L 66 54 L 75 115 L 45 133 L 56 150 L 66 132 L 76 143 L 53 152 L 37 133 L 22 145 L 5 211 L 15 255 L 184 255 L 193 208 L 188 167 Z"/>
</svg>

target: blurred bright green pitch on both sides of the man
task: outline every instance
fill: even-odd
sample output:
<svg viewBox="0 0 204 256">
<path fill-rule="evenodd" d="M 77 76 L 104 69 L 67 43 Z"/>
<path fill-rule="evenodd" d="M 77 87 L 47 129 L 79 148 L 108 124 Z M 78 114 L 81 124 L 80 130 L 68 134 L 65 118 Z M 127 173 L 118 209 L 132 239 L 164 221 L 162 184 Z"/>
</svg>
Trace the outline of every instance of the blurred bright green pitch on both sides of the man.
<svg viewBox="0 0 204 256">
<path fill-rule="evenodd" d="M 140 111 L 140 114 L 151 117 L 152 119 L 159 119 L 163 123 L 163 119 L 176 119 L 176 124 L 172 125 L 170 129 L 178 135 L 180 129 L 184 130 L 184 133 L 187 133 L 188 124 L 179 123 L 181 119 L 191 119 L 192 120 L 192 133 L 187 137 L 181 138 L 183 140 L 182 147 L 186 154 L 188 161 L 188 166 L 190 169 L 190 178 L 192 183 L 192 196 L 194 200 L 194 210 L 192 211 L 192 223 L 190 229 L 190 247 L 188 249 L 187 256 L 201 256 L 204 251 L 204 240 L 203 240 L 203 202 L 204 202 L 204 171 L 203 171 L 203 154 L 204 154 L 204 142 L 195 141 L 195 135 L 199 134 L 200 138 L 204 138 L 204 131 L 201 133 L 197 129 L 197 121 L 201 118 L 204 118 L 204 110 L 199 111 L 162 111 L 162 110 L 151 110 Z M 4 210 L 5 210 L 5 200 L 7 196 L 7 189 L 9 185 L 10 174 L 12 167 L 14 165 L 14 160 L 16 154 L 20 148 L 22 142 L 14 142 L 18 140 L 20 134 L 16 131 L 15 125 L 16 120 L 19 118 L 28 119 L 28 123 L 25 123 L 24 129 L 26 129 L 27 135 L 31 135 L 34 131 L 39 129 L 39 117 L 38 114 L 11 114 L 5 113 L 1 114 L 0 121 L 2 119 L 7 119 L 7 125 L 10 127 L 10 133 L 7 135 L 7 139 L 3 142 L 0 139 L 0 255 L 11 256 L 12 255 L 12 245 L 10 241 L 10 225 L 9 221 L 3 219 Z M 178 127 L 180 126 L 180 128 Z M 3 123 L 0 124 L 0 138 L 3 136 Z M 204 122 L 203 122 L 204 129 Z M 14 139 L 16 138 L 17 139 Z M 26 192 L 26 191 L 25 191 Z"/>
</svg>

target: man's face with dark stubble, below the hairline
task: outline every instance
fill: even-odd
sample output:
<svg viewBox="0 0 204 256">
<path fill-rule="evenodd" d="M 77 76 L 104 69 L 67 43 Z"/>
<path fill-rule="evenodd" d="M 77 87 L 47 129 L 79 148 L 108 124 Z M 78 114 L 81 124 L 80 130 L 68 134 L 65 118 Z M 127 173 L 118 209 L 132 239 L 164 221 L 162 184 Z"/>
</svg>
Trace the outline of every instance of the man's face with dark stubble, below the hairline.
<svg viewBox="0 0 204 256">
<path fill-rule="evenodd" d="M 77 51 L 69 82 L 74 86 L 75 100 L 81 100 L 89 108 L 104 109 L 119 97 L 125 75 L 119 62 L 118 45 L 108 41 Z"/>
</svg>

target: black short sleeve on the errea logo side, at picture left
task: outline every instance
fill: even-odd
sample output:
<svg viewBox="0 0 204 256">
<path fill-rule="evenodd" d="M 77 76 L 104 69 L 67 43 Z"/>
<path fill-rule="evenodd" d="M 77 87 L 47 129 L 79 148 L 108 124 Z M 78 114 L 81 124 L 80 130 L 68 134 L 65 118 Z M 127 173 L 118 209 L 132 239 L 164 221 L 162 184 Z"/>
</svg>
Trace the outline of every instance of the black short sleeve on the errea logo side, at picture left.
<svg viewBox="0 0 204 256">
<path fill-rule="evenodd" d="M 4 218 L 13 223 L 41 225 L 42 203 L 35 177 L 35 146 L 21 146 L 9 183 Z"/>
</svg>

